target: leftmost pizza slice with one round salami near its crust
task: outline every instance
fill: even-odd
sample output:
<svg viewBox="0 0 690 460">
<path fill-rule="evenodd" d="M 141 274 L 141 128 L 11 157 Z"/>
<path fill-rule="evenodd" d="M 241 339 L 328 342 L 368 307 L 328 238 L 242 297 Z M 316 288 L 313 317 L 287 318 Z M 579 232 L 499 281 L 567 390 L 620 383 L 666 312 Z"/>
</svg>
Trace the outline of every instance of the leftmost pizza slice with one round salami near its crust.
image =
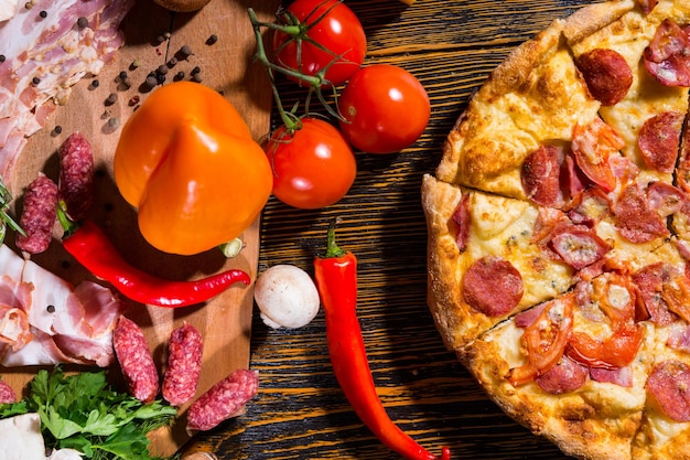
<svg viewBox="0 0 690 460">
<path fill-rule="evenodd" d="M 504 319 L 606 269 L 633 270 L 664 245 L 655 188 L 630 190 L 612 205 L 591 189 L 565 212 L 424 175 L 428 303 L 449 349 L 462 354 Z"/>
</svg>

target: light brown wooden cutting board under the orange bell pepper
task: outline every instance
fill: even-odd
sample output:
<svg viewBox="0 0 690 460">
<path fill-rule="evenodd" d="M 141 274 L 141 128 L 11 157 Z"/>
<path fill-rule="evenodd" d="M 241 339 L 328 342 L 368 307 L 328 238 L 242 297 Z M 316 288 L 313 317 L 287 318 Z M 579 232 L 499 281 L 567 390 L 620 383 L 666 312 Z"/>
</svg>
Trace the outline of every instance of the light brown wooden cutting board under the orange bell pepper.
<svg viewBox="0 0 690 460">
<path fill-rule="evenodd" d="M 270 21 L 279 1 L 251 3 L 260 18 Z M 226 259 L 218 250 L 190 257 L 162 254 L 139 234 L 136 211 L 119 196 L 111 168 L 122 125 L 150 94 L 142 87 L 147 75 L 168 63 L 185 45 L 193 54 L 169 71 L 168 82 L 177 72 L 184 72 L 184 79 L 188 79 L 191 71 L 198 67 L 201 83 L 222 92 L 237 107 L 255 139 L 260 140 L 267 135 L 271 92 L 263 68 L 251 62 L 256 42 L 246 8 L 244 2 L 213 0 L 198 12 L 183 14 L 170 13 L 151 0 L 137 1 L 122 23 L 126 45 L 116 60 L 99 75 L 79 82 L 67 104 L 57 107 L 46 127 L 30 139 L 11 178 L 15 203 L 21 202 L 24 188 L 40 171 L 57 179 L 56 151 L 73 131 L 78 130 L 94 147 L 98 171 L 89 218 L 105 229 L 129 263 L 162 278 L 188 279 L 240 268 L 254 280 L 259 250 L 258 222 L 241 235 L 245 247 L 235 258 Z M 212 35 L 217 38 L 214 43 L 208 41 Z M 121 71 L 127 72 L 131 87 L 118 84 L 117 76 Z M 94 84 L 95 81 L 98 83 Z M 106 105 L 110 94 L 117 95 L 117 101 Z M 55 130 L 55 127 L 61 129 Z M 233 203 L 227 205 L 230 211 Z M 90 275 L 62 248 L 61 235 L 56 226 L 50 249 L 32 259 L 72 282 L 89 279 Z M 11 247 L 13 236 L 10 234 L 6 240 Z M 249 366 L 252 299 L 251 287 L 236 285 L 204 307 L 172 310 L 126 302 L 126 314 L 144 329 L 159 371 L 163 370 L 166 343 L 174 328 L 186 321 L 202 331 L 205 342 L 198 396 L 235 368 Z M 0 372 L 6 382 L 21 392 L 36 368 L 3 368 Z M 117 375 L 117 370 L 114 374 Z M 186 406 L 181 408 L 182 414 L 184 409 Z M 152 450 L 164 456 L 174 453 L 190 438 L 184 425 L 180 420 L 172 430 L 157 432 Z"/>
</svg>

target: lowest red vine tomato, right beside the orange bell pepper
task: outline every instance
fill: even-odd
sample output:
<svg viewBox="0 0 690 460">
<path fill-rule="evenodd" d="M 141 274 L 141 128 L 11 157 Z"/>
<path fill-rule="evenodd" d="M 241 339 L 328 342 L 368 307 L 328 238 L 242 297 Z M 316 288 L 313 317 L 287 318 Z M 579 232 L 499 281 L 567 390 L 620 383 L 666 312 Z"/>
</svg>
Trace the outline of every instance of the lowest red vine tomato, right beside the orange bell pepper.
<svg viewBox="0 0 690 460">
<path fill-rule="evenodd" d="M 303 210 L 339 201 L 355 181 L 357 163 L 343 135 L 331 124 L 303 118 L 290 135 L 284 127 L 266 146 L 273 170 L 273 195 Z"/>
</svg>

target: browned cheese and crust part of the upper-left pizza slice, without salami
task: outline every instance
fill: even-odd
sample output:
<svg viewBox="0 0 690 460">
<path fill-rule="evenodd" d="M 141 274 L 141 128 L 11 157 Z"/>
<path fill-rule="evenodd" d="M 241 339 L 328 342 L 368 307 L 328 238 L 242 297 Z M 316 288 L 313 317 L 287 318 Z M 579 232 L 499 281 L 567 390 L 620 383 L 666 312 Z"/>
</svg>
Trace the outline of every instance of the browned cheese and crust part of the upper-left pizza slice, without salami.
<svg viewBox="0 0 690 460">
<path fill-rule="evenodd" d="M 580 77 L 562 29 L 563 21 L 554 21 L 492 73 L 449 135 L 436 178 L 525 200 L 526 159 L 543 157 L 542 148 L 557 154 L 572 140 L 574 126 L 597 117 L 601 104 Z"/>
</svg>

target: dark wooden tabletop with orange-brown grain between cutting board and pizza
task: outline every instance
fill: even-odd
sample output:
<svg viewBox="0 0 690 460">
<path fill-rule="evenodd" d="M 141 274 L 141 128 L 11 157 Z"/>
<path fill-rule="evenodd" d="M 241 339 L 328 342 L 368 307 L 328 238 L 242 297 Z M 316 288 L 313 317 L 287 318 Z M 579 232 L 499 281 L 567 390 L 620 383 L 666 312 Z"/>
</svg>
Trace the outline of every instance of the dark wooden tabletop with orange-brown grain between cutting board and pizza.
<svg viewBox="0 0 690 460">
<path fill-rule="evenodd" d="M 433 172 L 467 98 L 519 43 L 585 0 L 347 0 L 368 34 L 365 64 L 413 73 L 432 101 L 421 139 L 397 154 L 357 152 L 349 194 L 321 211 L 271 199 L 262 215 L 259 271 L 293 264 L 313 274 L 328 223 L 359 259 L 358 314 L 379 395 L 390 417 L 434 453 L 453 459 L 562 459 L 550 442 L 505 416 L 445 350 L 428 311 L 422 174 Z M 280 83 L 285 98 L 300 97 Z M 272 117 L 273 124 L 279 119 Z M 392 459 L 362 425 L 332 373 L 323 312 L 298 330 L 267 328 L 255 309 L 251 367 L 261 387 L 247 413 L 195 439 L 219 459 Z"/>
</svg>

